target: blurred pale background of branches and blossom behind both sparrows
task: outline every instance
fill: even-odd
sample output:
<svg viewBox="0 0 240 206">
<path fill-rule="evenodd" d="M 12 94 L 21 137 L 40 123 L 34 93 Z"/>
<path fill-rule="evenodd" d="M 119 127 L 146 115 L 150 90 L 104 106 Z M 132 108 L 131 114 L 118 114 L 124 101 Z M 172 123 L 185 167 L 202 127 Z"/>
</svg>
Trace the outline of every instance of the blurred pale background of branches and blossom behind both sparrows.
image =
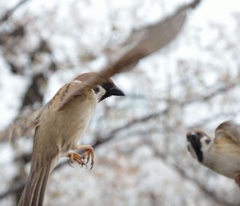
<svg viewBox="0 0 240 206">
<path fill-rule="evenodd" d="M 0 130 L 189 2 L 0 1 Z M 239 122 L 239 33 L 237 0 L 202 1 L 170 45 L 115 75 L 126 97 L 101 102 L 81 139 L 95 145 L 94 168 L 62 164 L 45 205 L 240 205 L 234 181 L 192 159 L 185 140 L 190 128 L 214 135 L 221 122 Z M 31 137 L 0 142 L 0 205 L 17 204 L 31 149 Z"/>
</svg>

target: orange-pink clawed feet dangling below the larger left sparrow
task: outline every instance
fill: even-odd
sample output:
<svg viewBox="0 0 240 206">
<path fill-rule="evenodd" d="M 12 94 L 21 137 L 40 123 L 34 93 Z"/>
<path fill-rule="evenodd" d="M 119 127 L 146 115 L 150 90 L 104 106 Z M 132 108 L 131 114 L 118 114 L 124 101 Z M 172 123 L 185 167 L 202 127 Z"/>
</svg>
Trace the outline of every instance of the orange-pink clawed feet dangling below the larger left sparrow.
<svg viewBox="0 0 240 206">
<path fill-rule="evenodd" d="M 91 168 L 90 168 L 90 170 L 91 170 L 93 168 L 93 164 L 94 164 L 93 148 L 90 145 L 78 145 L 74 149 L 84 150 L 84 152 L 81 155 L 78 154 L 77 152 L 67 153 L 65 157 L 69 157 L 69 164 L 71 164 L 73 162 L 77 162 L 81 166 L 85 165 L 87 167 L 87 163 L 89 162 L 89 160 L 91 158 Z"/>
</svg>

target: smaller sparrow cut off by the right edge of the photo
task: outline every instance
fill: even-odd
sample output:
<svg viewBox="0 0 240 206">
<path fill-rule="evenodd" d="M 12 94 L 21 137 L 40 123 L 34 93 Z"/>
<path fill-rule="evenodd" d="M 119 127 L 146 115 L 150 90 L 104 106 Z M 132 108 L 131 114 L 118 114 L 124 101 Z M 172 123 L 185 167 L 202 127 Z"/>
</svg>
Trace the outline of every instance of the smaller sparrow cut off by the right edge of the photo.
<svg viewBox="0 0 240 206">
<path fill-rule="evenodd" d="M 187 133 L 187 147 L 201 164 L 234 179 L 240 186 L 240 125 L 223 122 L 215 130 L 215 138 L 201 130 L 191 130 Z"/>
</svg>

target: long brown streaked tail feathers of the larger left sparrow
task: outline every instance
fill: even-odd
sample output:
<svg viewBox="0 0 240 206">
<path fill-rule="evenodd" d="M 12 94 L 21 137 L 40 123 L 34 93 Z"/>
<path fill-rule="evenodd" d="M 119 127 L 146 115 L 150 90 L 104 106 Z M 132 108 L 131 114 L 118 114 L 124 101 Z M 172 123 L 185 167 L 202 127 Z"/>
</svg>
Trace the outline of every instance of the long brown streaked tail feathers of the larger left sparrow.
<svg viewBox="0 0 240 206">
<path fill-rule="evenodd" d="M 37 171 L 31 169 L 26 186 L 18 206 L 42 206 L 48 177 L 51 173 L 51 162 Z"/>
</svg>

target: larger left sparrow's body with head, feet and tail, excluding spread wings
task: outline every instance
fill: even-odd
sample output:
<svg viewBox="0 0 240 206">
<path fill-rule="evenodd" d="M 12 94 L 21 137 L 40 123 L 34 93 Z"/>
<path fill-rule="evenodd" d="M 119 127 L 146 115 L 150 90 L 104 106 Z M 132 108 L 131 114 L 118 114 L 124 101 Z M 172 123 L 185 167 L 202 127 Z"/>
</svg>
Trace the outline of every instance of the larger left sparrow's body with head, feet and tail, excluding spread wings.
<svg viewBox="0 0 240 206">
<path fill-rule="evenodd" d="M 89 79 L 100 82 L 90 85 Z M 79 75 L 65 84 L 47 105 L 37 112 L 30 174 L 21 196 L 19 206 L 41 206 L 48 177 L 61 156 L 69 157 L 80 165 L 86 165 L 94 153 L 90 145 L 77 145 L 86 130 L 96 104 L 103 99 L 124 96 L 113 81 L 98 73 Z M 69 150 L 83 149 L 83 155 Z"/>
</svg>

